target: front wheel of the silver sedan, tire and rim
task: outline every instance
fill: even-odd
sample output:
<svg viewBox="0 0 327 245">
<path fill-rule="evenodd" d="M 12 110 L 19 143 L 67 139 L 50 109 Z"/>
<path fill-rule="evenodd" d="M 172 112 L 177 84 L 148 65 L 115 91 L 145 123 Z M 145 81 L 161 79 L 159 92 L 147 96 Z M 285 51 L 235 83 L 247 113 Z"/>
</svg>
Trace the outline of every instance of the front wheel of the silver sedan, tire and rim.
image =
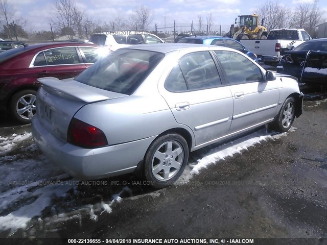
<svg viewBox="0 0 327 245">
<path fill-rule="evenodd" d="M 294 97 L 288 97 L 272 122 L 272 129 L 281 133 L 288 131 L 292 127 L 295 118 L 295 106 Z M 290 108 L 292 108 L 292 112 L 290 112 Z"/>
</svg>

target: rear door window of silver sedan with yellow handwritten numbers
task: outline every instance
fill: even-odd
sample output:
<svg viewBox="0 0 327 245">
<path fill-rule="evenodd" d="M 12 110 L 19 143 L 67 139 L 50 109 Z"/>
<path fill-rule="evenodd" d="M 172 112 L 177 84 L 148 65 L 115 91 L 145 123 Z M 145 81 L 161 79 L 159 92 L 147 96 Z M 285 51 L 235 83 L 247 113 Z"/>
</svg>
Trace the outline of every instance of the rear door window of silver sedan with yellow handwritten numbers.
<svg viewBox="0 0 327 245">
<path fill-rule="evenodd" d="M 216 64 L 209 52 L 196 52 L 179 60 L 189 90 L 214 88 L 221 85 Z"/>
</svg>

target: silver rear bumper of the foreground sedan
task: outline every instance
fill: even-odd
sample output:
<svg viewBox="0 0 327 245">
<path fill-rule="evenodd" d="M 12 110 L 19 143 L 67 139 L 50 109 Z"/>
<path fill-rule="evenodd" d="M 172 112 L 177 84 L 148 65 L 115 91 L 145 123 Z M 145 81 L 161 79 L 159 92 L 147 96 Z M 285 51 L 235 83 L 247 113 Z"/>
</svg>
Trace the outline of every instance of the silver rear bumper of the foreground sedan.
<svg viewBox="0 0 327 245">
<path fill-rule="evenodd" d="M 78 179 L 100 179 L 131 173 L 156 136 L 97 149 L 83 149 L 53 136 L 32 119 L 32 134 L 41 152 L 69 175 Z"/>
</svg>

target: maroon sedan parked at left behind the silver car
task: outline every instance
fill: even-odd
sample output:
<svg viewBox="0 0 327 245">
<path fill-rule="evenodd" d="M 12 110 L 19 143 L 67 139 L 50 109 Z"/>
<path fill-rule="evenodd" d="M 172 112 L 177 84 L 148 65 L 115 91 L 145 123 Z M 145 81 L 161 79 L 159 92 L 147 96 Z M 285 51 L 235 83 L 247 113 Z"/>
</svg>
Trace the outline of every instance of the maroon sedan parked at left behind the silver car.
<svg viewBox="0 0 327 245">
<path fill-rule="evenodd" d="M 89 43 L 41 43 L 0 54 L 0 110 L 22 123 L 35 114 L 38 78 L 73 78 L 99 58 Z"/>
</svg>

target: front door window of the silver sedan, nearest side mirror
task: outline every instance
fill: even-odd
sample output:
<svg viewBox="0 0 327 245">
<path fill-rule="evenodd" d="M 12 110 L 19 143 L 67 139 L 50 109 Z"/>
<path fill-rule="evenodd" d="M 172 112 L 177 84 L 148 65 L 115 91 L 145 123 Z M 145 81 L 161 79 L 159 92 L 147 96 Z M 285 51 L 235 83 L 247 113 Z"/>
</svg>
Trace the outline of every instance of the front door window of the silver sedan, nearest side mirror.
<svg viewBox="0 0 327 245">
<path fill-rule="evenodd" d="M 243 55 L 231 51 L 215 51 L 230 84 L 263 81 L 258 66 Z"/>
</svg>

